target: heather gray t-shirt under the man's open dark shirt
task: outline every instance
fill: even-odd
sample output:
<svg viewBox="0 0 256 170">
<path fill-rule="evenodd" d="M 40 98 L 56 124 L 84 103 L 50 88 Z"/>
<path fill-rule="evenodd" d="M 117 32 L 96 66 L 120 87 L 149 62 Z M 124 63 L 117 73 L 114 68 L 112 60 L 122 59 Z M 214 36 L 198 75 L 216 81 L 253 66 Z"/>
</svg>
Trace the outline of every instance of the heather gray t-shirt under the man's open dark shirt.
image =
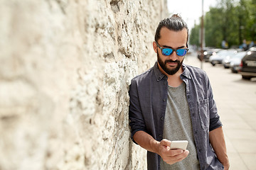
<svg viewBox="0 0 256 170">
<path fill-rule="evenodd" d="M 166 106 L 166 115 L 164 118 L 164 139 L 167 140 L 188 140 L 188 157 L 176 164 L 166 164 L 161 159 L 160 169 L 200 169 L 196 145 L 193 138 L 191 125 L 191 116 L 186 100 L 186 84 L 183 82 L 181 86 L 168 86 L 168 100 Z"/>
</svg>

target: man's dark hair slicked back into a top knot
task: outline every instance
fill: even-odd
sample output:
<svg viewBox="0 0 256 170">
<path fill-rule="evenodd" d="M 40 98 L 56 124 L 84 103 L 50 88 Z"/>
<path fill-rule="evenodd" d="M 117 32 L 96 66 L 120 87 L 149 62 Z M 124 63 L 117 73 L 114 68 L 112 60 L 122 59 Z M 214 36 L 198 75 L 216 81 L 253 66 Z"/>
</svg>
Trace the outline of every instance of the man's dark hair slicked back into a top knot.
<svg viewBox="0 0 256 170">
<path fill-rule="evenodd" d="M 163 27 L 166 27 L 169 30 L 174 30 L 174 31 L 179 31 L 179 30 L 183 30 L 183 28 L 186 28 L 187 35 L 188 35 L 188 26 L 185 23 L 185 21 L 183 21 L 181 16 L 179 16 L 178 14 L 174 14 L 170 18 L 165 18 L 164 20 L 160 21 L 159 26 L 156 28 L 156 34 L 155 34 L 156 42 L 158 42 L 158 40 L 161 38 L 160 30 Z M 187 36 L 186 45 L 188 47 L 188 36 Z"/>
</svg>

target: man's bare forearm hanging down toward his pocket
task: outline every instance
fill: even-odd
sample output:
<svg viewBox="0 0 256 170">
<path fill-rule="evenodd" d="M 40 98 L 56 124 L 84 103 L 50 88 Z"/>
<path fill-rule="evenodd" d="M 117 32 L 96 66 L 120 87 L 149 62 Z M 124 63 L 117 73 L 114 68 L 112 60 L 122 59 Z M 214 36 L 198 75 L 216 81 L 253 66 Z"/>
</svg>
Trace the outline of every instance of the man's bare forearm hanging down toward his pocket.
<svg viewBox="0 0 256 170">
<path fill-rule="evenodd" d="M 209 135 L 210 135 L 210 145 L 213 146 L 213 149 L 219 161 L 221 162 L 221 164 L 223 164 L 224 169 L 228 170 L 230 164 L 228 161 L 228 154 L 225 146 L 225 139 L 224 139 L 222 127 L 216 128 L 215 130 L 210 131 Z"/>
</svg>

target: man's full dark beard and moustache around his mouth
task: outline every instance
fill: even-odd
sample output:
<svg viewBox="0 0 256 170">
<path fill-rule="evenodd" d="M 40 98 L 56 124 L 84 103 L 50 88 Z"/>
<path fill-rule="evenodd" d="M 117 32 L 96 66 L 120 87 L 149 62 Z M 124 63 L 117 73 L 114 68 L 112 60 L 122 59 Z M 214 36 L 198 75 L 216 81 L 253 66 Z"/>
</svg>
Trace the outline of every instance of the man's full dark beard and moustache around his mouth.
<svg viewBox="0 0 256 170">
<path fill-rule="evenodd" d="M 183 59 L 184 60 L 184 59 Z M 166 74 L 169 74 L 169 75 L 174 75 L 176 74 L 176 72 L 178 72 L 178 70 L 181 68 L 181 65 L 183 63 L 183 60 L 180 62 L 178 60 L 161 60 L 161 58 L 159 57 L 159 52 L 157 52 L 157 62 L 159 63 L 160 67 L 164 70 L 164 72 L 166 72 Z M 177 66 L 174 67 L 174 68 L 167 68 L 167 62 L 176 62 L 177 63 Z"/>
</svg>

